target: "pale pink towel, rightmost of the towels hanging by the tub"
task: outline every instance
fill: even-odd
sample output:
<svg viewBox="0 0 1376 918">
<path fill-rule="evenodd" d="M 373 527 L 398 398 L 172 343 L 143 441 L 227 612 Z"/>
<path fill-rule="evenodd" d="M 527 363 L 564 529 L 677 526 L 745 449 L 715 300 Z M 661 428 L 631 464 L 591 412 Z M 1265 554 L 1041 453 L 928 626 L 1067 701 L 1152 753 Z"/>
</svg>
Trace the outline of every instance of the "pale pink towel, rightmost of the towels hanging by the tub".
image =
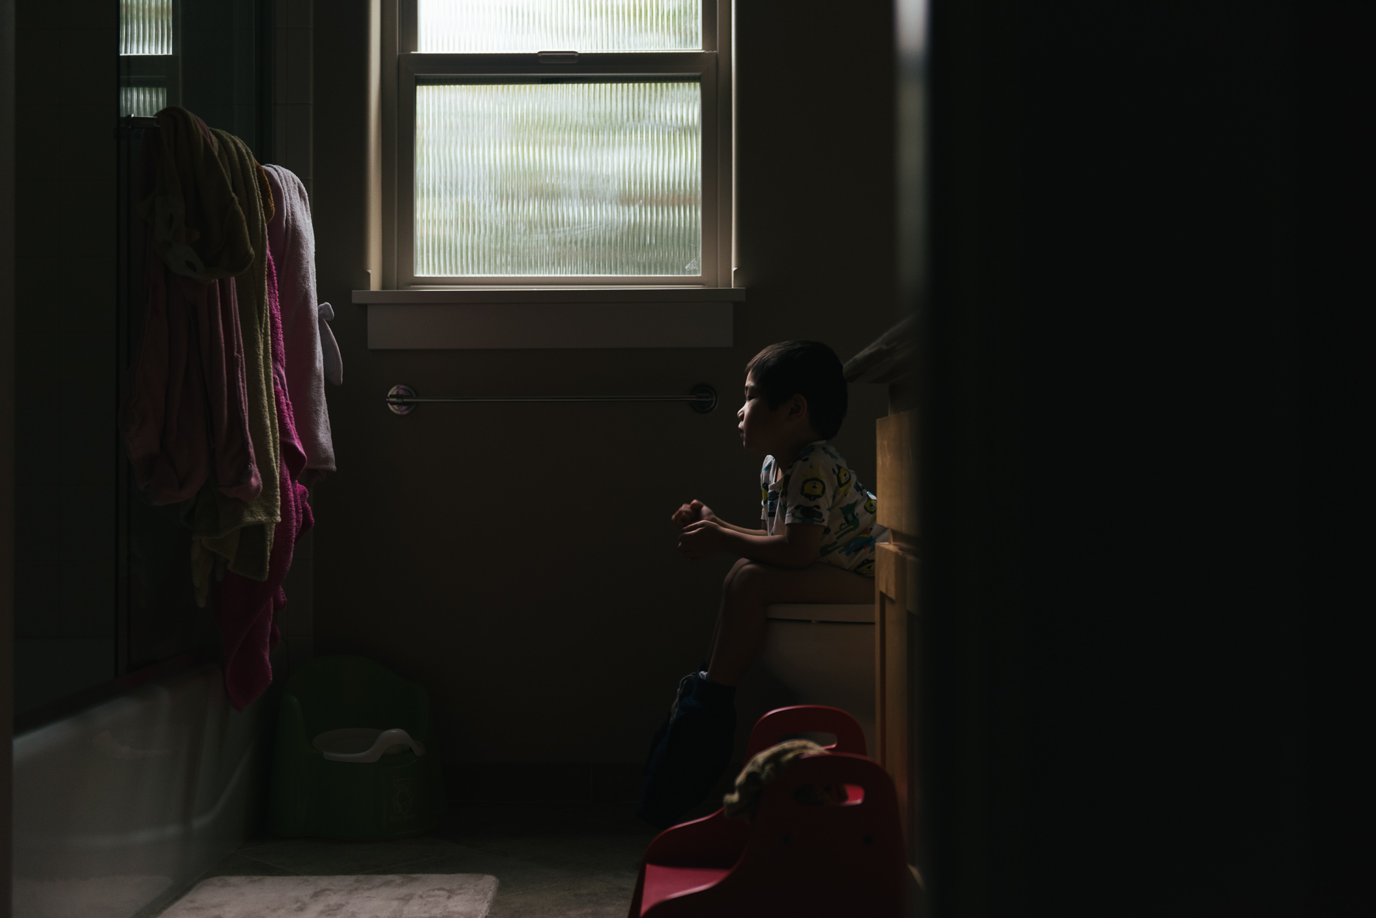
<svg viewBox="0 0 1376 918">
<path fill-rule="evenodd" d="M 296 411 L 297 433 L 305 449 L 305 467 L 334 471 L 330 415 L 325 405 L 325 356 L 315 298 L 315 232 L 305 186 L 282 166 L 263 166 L 272 187 L 277 213 L 267 224 L 268 250 L 277 262 L 282 306 L 282 341 L 286 349 L 286 390 Z M 330 313 L 333 316 L 333 313 Z M 337 350 L 337 349 L 336 349 Z"/>
</svg>

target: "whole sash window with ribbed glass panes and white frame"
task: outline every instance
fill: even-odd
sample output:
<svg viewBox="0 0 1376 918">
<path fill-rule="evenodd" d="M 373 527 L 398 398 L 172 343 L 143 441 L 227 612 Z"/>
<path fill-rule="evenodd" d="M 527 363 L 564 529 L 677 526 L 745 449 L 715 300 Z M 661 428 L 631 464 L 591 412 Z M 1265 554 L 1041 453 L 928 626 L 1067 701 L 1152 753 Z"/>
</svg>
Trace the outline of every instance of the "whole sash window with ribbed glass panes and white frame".
<svg viewBox="0 0 1376 918">
<path fill-rule="evenodd" d="M 728 0 L 398 3 L 389 286 L 731 286 Z"/>
</svg>

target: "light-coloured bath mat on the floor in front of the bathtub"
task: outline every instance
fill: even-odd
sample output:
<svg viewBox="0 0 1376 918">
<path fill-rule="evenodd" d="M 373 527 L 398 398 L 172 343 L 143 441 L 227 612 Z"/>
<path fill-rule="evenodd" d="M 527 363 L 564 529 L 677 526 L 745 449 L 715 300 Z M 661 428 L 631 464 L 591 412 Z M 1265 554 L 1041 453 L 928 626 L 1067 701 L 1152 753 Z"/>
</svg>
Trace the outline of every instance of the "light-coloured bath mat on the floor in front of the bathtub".
<svg viewBox="0 0 1376 918">
<path fill-rule="evenodd" d="M 487 918 L 497 877 L 212 877 L 161 918 Z"/>
</svg>

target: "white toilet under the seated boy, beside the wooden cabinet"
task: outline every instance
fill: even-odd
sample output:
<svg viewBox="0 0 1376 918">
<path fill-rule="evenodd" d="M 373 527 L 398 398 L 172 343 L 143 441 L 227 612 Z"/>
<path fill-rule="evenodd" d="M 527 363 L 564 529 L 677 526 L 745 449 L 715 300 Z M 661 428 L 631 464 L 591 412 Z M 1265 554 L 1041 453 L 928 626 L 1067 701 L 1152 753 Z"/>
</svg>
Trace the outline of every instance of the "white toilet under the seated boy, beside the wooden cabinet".
<svg viewBox="0 0 1376 918">
<path fill-rule="evenodd" d="M 738 724 L 784 705 L 831 705 L 860 721 L 875 754 L 874 643 L 874 603 L 766 606 L 764 647 L 736 693 Z M 738 746 L 739 759 L 742 737 Z"/>
</svg>

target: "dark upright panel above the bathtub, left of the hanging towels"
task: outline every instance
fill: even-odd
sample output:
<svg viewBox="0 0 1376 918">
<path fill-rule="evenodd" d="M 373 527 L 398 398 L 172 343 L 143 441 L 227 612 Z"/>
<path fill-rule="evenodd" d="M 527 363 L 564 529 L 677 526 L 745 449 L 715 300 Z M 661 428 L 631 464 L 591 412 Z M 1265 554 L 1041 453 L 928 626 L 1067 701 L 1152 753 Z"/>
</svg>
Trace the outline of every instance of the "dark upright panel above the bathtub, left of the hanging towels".
<svg viewBox="0 0 1376 918">
<path fill-rule="evenodd" d="M 116 676 L 118 4 L 15 15 L 15 706 Z"/>
</svg>

